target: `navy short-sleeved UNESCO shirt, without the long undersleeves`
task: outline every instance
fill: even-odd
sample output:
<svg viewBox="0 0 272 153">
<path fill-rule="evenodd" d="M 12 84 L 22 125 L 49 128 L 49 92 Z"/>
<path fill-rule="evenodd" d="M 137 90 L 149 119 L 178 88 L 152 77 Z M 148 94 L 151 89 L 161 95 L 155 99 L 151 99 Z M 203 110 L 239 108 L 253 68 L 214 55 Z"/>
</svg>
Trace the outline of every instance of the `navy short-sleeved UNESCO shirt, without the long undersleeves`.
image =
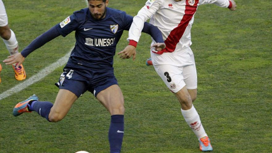
<svg viewBox="0 0 272 153">
<path fill-rule="evenodd" d="M 62 36 L 75 31 L 76 43 L 67 66 L 74 67 L 76 63 L 92 68 L 112 67 L 116 45 L 132 21 L 133 17 L 124 11 L 108 7 L 101 20 L 94 19 L 88 8 L 74 12 L 56 25 Z"/>
</svg>

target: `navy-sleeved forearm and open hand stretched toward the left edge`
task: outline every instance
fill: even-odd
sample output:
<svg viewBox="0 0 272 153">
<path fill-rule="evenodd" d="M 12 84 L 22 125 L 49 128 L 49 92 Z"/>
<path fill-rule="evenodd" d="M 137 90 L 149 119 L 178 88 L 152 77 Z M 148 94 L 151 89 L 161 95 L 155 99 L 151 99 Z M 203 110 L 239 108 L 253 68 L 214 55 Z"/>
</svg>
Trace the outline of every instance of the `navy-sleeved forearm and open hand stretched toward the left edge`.
<svg viewBox="0 0 272 153">
<path fill-rule="evenodd" d="M 16 53 L 14 55 L 8 56 L 8 58 L 5 59 L 3 62 L 5 62 L 6 65 L 18 63 L 17 66 L 19 66 L 23 63 L 25 57 L 27 57 L 31 52 L 45 45 L 47 42 L 53 40 L 59 35 L 60 33 L 57 31 L 56 26 L 54 26 L 47 32 L 34 39 L 25 49 L 23 49 L 21 53 Z"/>
</svg>

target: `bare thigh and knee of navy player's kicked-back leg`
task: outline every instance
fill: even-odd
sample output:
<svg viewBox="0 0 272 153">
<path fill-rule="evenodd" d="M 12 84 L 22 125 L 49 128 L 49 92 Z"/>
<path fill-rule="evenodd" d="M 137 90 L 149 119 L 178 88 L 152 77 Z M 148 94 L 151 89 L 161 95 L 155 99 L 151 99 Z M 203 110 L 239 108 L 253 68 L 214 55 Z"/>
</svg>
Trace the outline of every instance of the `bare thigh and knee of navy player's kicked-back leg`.
<svg viewBox="0 0 272 153">
<path fill-rule="evenodd" d="M 77 98 L 78 97 L 73 92 L 66 89 L 60 89 L 49 113 L 49 121 L 57 122 L 62 120 Z"/>
</svg>

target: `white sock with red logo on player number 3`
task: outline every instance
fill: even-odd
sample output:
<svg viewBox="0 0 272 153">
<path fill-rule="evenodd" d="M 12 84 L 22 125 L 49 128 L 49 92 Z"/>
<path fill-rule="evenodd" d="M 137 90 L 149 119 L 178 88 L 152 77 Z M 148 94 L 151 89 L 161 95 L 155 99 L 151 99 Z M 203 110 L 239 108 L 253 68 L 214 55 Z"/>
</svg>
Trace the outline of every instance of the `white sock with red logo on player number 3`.
<svg viewBox="0 0 272 153">
<path fill-rule="evenodd" d="M 198 115 L 197 110 L 193 107 L 188 110 L 181 109 L 181 113 L 189 125 L 189 127 L 193 130 L 193 133 L 198 137 L 198 139 L 207 136 L 201 121 Z"/>
</svg>

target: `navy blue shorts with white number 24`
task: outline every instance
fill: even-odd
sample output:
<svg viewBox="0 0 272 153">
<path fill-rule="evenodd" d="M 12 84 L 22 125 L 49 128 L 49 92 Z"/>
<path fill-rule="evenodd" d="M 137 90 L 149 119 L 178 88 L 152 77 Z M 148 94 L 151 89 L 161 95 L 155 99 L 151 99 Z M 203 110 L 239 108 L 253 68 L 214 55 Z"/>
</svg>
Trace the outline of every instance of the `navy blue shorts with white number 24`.
<svg viewBox="0 0 272 153">
<path fill-rule="evenodd" d="M 77 97 L 87 90 L 96 97 L 97 94 L 117 84 L 112 70 L 83 70 L 64 68 L 60 79 L 55 85 L 59 89 L 66 89 L 73 92 Z"/>
</svg>

